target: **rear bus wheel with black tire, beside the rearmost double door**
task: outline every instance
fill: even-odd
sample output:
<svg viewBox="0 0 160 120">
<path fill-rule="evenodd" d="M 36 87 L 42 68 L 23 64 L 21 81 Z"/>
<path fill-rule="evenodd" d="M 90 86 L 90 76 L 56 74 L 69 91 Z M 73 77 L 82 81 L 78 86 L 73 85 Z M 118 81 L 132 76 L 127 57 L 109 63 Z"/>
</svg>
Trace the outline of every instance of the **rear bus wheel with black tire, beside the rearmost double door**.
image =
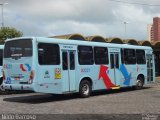
<svg viewBox="0 0 160 120">
<path fill-rule="evenodd" d="M 92 93 L 92 85 L 88 80 L 83 80 L 80 83 L 79 87 L 79 95 L 82 98 L 87 98 L 91 95 Z"/>
</svg>

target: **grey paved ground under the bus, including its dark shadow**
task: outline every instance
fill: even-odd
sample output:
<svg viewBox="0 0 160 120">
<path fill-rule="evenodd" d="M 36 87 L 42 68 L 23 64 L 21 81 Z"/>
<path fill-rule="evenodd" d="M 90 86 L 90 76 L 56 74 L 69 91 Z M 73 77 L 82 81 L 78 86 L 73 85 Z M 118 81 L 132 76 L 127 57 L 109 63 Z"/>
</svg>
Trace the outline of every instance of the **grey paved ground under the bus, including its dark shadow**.
<svg viewBox="0 0 160 120">
<path fill-rule="evenodd" d="M 160 83 L 143 90 L 96 92 L 89 98 L 40 93 L 0 95 L 0 113 L 7 114 L 160 114 Z"/>
</svg>

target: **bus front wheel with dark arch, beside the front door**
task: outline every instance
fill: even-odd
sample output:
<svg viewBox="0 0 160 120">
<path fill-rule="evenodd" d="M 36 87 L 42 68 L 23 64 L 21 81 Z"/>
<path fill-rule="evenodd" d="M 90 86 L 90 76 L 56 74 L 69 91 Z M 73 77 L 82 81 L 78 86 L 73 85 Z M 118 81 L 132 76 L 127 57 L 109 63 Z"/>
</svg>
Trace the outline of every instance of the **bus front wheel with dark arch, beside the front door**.
<svg viewBox="0 0 160 120">
<path fill-rule="evenodd" d="M 143 74 L 139 74 L 136 81 L 136 89 L 142 89 L 144 85 L 145 77 Z"/>
</svg>

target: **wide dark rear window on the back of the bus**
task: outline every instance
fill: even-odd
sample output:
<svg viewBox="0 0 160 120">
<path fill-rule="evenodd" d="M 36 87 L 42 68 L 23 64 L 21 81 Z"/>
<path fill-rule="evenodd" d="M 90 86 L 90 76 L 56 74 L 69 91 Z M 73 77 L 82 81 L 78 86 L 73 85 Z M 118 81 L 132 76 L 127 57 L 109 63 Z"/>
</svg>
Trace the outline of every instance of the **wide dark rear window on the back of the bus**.
<svg viewBox="0 0 160 120">
<path fill-rule="evenodd" d="M 30 39 L 8 41 L 4 48 L 4 58 L 32 56 L 32 41 Z"/>
</svg>

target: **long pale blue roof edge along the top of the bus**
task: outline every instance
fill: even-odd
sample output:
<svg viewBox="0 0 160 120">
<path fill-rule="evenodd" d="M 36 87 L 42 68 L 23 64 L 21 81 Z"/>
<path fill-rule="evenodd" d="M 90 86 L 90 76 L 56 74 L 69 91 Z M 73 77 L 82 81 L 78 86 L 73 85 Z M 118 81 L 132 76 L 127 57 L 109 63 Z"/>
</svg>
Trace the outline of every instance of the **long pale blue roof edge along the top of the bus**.
<svg viewBox="0 0 160 120">
<path fill-rule="evenodd" d="M 60 43 L 60 44 L 68 44 L 68 45 L 86 45 L 86 46 L 104 46 L 104 47 L 116 47 L 116 48 L 136 48 L 136 49 L 150 49 L 149 46 L 138 46 L 138 45 L 129 45 L 129 44 L 116 44 L 116 43 L 104 43 L 104 42 L 91 42 L 91 41 L 82 41 L 82 40 L 66 40 L 59 38 L 47 38 L 47 37 L 19 37 L 8 39 L 7 41 L 12 40 L 20 40 L 20 39 L 33 39 L 37 42 L 43 43 Z"/>
</svg>

